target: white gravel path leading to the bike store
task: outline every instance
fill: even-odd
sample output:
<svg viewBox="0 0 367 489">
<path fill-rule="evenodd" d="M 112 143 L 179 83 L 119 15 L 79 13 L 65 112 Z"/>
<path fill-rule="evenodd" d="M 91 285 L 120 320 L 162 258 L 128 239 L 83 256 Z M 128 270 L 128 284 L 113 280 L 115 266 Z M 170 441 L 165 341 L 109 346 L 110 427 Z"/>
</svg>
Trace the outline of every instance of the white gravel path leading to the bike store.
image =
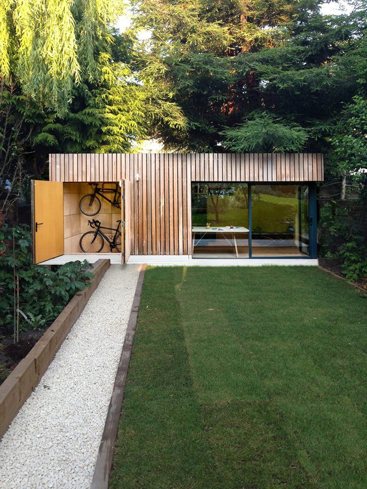
<svg viewBox="0 0 367 489">
<path fill-rule="evenodd" d="M 111 265 L 0 442 L 1 489 L 89 488 L 139 265 Z"/>
</svg>

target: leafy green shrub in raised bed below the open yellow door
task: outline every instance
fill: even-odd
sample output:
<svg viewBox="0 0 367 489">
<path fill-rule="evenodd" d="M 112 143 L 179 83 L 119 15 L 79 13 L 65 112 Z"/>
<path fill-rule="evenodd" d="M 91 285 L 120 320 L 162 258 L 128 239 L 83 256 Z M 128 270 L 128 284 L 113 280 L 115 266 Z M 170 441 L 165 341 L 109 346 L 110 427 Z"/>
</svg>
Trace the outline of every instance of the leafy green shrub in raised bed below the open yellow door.
<svg viewBox="0 0 367 489">
<path fill-rule="evenodd" d="M 69 262 L 56 270 L 34 265 L 31 244 L 28 226 L 4 224 L 0 229 L 0 313 L 9 331 L 14 326 L 14 264 L 19 277 L 19 309 L 27 316 L 20 315 L 20 329 L 39 329 L 53 321 L 78 290 L 90 286 L 93 277 L 88 271 L 92 265 L 86 260 Z"/>
</svg>

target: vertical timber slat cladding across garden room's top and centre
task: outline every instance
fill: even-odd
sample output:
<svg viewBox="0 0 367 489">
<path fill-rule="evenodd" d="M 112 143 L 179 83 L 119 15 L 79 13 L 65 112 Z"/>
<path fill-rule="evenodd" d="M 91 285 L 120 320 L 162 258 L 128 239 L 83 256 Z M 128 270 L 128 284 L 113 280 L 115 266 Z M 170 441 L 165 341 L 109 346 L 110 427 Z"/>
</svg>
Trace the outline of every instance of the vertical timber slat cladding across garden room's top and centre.
<svg viewBox="0 0 367 489">
<path fill-rule="evenodd" d="M 130 182 L 132 255 L 191 254 L 191 182 L 312 182 L 323 178 L 321 153 L 49 155 L 50 181 Z"/>
</svg>

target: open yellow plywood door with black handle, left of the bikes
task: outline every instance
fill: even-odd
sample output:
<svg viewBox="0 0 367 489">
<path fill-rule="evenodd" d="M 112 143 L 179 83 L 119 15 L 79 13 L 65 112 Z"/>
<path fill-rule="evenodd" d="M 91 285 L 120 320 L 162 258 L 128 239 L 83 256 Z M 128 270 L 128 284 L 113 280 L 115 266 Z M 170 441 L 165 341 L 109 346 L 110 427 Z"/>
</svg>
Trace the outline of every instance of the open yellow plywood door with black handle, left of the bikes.
<svg viewBox="0 0 367 489">
<path fill-rule="evenodd" d="M 33 261 L 64 253 L 64 192 L 62 182 L 32 180 Z"/>
</svg>

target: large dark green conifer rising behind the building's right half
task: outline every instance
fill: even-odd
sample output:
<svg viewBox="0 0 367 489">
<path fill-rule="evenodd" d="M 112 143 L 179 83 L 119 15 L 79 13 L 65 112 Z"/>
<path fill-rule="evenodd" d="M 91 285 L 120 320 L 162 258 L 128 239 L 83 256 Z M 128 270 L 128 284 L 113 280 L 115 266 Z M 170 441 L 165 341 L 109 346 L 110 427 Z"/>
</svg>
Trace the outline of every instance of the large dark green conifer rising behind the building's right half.
<svg viewBox="0 0 367 489">
<path fill-rule="evenodd" d="M 249 130 L 257 141 L 271 130 L 289 138 L 272 151 L 328 149 L 358 90 L 351 61 L 361 56 L 366 11 L 357 7 L 323 16 L 312 0 L 139 2 L 136 27 L 151 37 L 136 64 L 187 120 L 179 130 L 155 125 L 154 137 L 178 151 L 222 151 L 226 135 L 229 149 L 245 150 Z"/>
</svg>

